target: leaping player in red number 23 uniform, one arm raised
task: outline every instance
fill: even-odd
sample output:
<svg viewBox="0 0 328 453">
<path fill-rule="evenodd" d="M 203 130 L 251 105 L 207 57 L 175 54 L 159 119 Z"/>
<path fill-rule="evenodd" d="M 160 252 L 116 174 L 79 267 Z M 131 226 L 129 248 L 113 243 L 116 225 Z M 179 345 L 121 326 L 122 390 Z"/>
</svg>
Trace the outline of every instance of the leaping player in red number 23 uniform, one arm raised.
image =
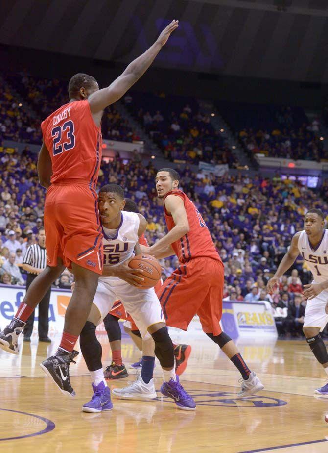
<svg viewBox="0 0 328 453">
<path fill-rule="evenodd" d="M 65 315 L 57 352 L 41 364 L 60 391 L 75 396 L 70 385 L 74 345 L 85 325 L 102 274 L 102 233 L 96 183 L 101 163 L 100 123 L 104 108 L 120 99 L 149 68 L 178 21 L 172 21 L 155 43 L 134 60 L 109 87 L 99 90 L 94 77 L 76 74 L 69 83 L 69 103 L 41 125 L 43 144 L 38 158 L 40 183 L 47 188 L 45 229 L 47 268 L 30 285 L 15 317 L 0 334 L 0 347 L 18 354 L 18 336 L 27 318 L 65 267 L 75 288 Z"/>
</svg>

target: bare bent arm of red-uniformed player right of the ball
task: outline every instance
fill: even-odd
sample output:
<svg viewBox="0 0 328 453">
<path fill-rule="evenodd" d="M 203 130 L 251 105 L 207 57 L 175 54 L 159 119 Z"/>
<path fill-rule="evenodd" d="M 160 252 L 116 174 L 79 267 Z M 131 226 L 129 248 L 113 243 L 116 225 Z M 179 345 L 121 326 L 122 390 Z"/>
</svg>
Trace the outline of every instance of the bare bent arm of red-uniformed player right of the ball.
<svg viewBox="0 0 328 453">
<path fill-rule="evenodd" d="M 184 201 L 178 195 L 168 195 L 165 198 L 165 208 L 174 221 L 174 227 L 162 239 L 157 241 L 149 248 L 151 255 L 163 258 L 163 252 L 167 251 L 168 246 L 183 237 L 189 231 L 189 222 Z"/>
</svg>

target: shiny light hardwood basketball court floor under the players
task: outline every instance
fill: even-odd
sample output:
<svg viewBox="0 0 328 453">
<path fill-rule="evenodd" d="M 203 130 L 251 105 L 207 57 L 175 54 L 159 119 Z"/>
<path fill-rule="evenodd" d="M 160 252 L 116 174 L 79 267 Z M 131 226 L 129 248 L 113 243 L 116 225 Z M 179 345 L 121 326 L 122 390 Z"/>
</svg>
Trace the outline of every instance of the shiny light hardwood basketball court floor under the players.
<svg viewBox="0 0 328 453">
<path fill-rule="evenodd" d="M 47 345 L 33 336 L 19 356 L 0 352 L 0 452 L 328 451 L 328 425 L 323 419 L 328 399 L 313 394 L 324 384 L 325 375 L 305 341 L 239 343 L 265 390 L 238 400 L 239 376 L 234 366 L 206 337 L 191 339 L 193 350 L 181 380 L 196 401 L 195 412 L 176 409 L 158 392 L 157 400 L 113 399 L 112 411 L 88 414 L 81 412 L 92 395 L 81 355 L 70 367 L 75 399 L 65 398 L 39 368 L 60 338 L 52 339 Z M 107 365 L 111 357 L 107 337 L 100 339 Z M 126 337 L 122 352 L 126 366 L 140 355 Z M 159 390 L 158 362 L 155 375 Z M 130 374 L 110 387 L 123 387 L 134 378 Z"/>
</svg>

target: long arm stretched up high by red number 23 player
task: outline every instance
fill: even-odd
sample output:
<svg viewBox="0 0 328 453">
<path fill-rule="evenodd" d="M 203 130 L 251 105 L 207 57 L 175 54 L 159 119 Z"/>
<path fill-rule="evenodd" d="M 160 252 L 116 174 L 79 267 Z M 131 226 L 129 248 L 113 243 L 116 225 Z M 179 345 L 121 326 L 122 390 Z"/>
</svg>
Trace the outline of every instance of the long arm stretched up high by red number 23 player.
<svg viewBox="0 0 328 453">
<path fill-rule="evenodd" d="M 172 31 L 174 31 L 178 25 L 179 21 L 173 20 L 166 28 L 164 28 L 155 43 L 142 55 L 132 61 L 111 85 L 102 90 L 98 90 L 89 96 L 88 101 L 93 114 L 101 112 L 108 105 L 118 101 L 132 85 L 137 82 L 137 80 L 147 71 L 158 52 L 168 40 Z"/>
</svg>

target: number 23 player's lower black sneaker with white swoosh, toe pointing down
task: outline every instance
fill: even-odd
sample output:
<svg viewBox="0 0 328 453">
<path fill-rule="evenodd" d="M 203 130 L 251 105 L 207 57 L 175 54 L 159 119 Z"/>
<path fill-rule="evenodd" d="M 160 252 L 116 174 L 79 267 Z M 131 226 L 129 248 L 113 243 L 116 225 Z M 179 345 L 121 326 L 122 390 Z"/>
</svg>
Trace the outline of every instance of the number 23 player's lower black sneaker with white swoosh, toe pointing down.
<svg viewBox="0 0 328 453">
<path fill-rule="evenodd" d="M 74 358 L 79 353 L 75 350 L 72 352 L 57 351 L 55 355 L 40 363 L 40 367 L 51 377 L 59 390 L 66 396 L 74 397 L 75 392 L 70 385 L 70 362 L 76 363 Z"/>
</svg>

